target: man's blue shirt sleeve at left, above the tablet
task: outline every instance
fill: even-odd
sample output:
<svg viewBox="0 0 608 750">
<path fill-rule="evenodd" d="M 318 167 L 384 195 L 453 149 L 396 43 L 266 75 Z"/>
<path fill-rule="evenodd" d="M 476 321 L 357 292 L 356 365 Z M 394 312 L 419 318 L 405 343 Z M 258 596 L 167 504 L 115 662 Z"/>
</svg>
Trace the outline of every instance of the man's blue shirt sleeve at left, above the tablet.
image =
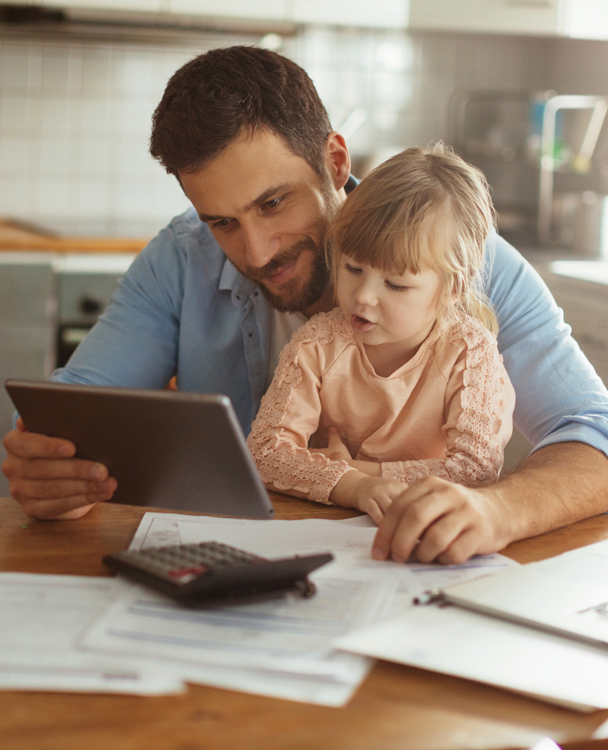
<svg viewBox="0 0 608 750">
<path fill-rule="evenodd" d="M 51 380 L 163 388 L 176 373 L 185 262 L 171 228 L 136 257 L 65 368 Z"/>
</svg>

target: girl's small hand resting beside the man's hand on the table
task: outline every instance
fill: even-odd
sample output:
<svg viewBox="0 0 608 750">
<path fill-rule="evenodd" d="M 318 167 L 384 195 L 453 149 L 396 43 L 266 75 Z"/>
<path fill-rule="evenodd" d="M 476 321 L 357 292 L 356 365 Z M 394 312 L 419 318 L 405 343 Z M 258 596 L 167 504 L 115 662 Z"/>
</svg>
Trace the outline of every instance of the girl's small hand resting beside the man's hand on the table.
<svg viewBox="0 0 608 750">
<path fill-rule="evenodd" d="M 329 499 L 344 508 L 367 513 L 379 525 L 393 500 L 403 494 L 403 489 L 404 485 L 394 479 L 349 471 L 338 481 Z"/>
</svg>

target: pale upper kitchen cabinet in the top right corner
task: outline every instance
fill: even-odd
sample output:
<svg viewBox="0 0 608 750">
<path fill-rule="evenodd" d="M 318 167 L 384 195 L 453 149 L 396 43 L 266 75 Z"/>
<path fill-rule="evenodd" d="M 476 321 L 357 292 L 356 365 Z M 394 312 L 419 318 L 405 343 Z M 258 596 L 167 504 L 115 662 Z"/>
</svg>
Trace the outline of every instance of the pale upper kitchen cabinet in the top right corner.
<svg viewBox="0 0 608 750">
<path fill-rule="evenodd" d="M 410 27 L 608 39 L 606 0 L 410 0 Z"/>
</svg>

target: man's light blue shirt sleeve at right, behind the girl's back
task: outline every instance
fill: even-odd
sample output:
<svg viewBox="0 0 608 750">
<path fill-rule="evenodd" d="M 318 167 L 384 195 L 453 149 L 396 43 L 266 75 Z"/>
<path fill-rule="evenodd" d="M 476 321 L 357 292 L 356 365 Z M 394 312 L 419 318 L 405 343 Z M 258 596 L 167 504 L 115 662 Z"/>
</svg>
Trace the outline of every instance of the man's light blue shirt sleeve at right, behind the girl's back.
<svg viewBox="0 0 608 750">
<path fill-rule="evenodd" d="M 515 426 L 534 450 L 578 441 L 608 455 L 608 391 L 562 310 L 538 273 L 496 234 L 487 255 L 498 347 L 517 394 Z"/>
</svg>

